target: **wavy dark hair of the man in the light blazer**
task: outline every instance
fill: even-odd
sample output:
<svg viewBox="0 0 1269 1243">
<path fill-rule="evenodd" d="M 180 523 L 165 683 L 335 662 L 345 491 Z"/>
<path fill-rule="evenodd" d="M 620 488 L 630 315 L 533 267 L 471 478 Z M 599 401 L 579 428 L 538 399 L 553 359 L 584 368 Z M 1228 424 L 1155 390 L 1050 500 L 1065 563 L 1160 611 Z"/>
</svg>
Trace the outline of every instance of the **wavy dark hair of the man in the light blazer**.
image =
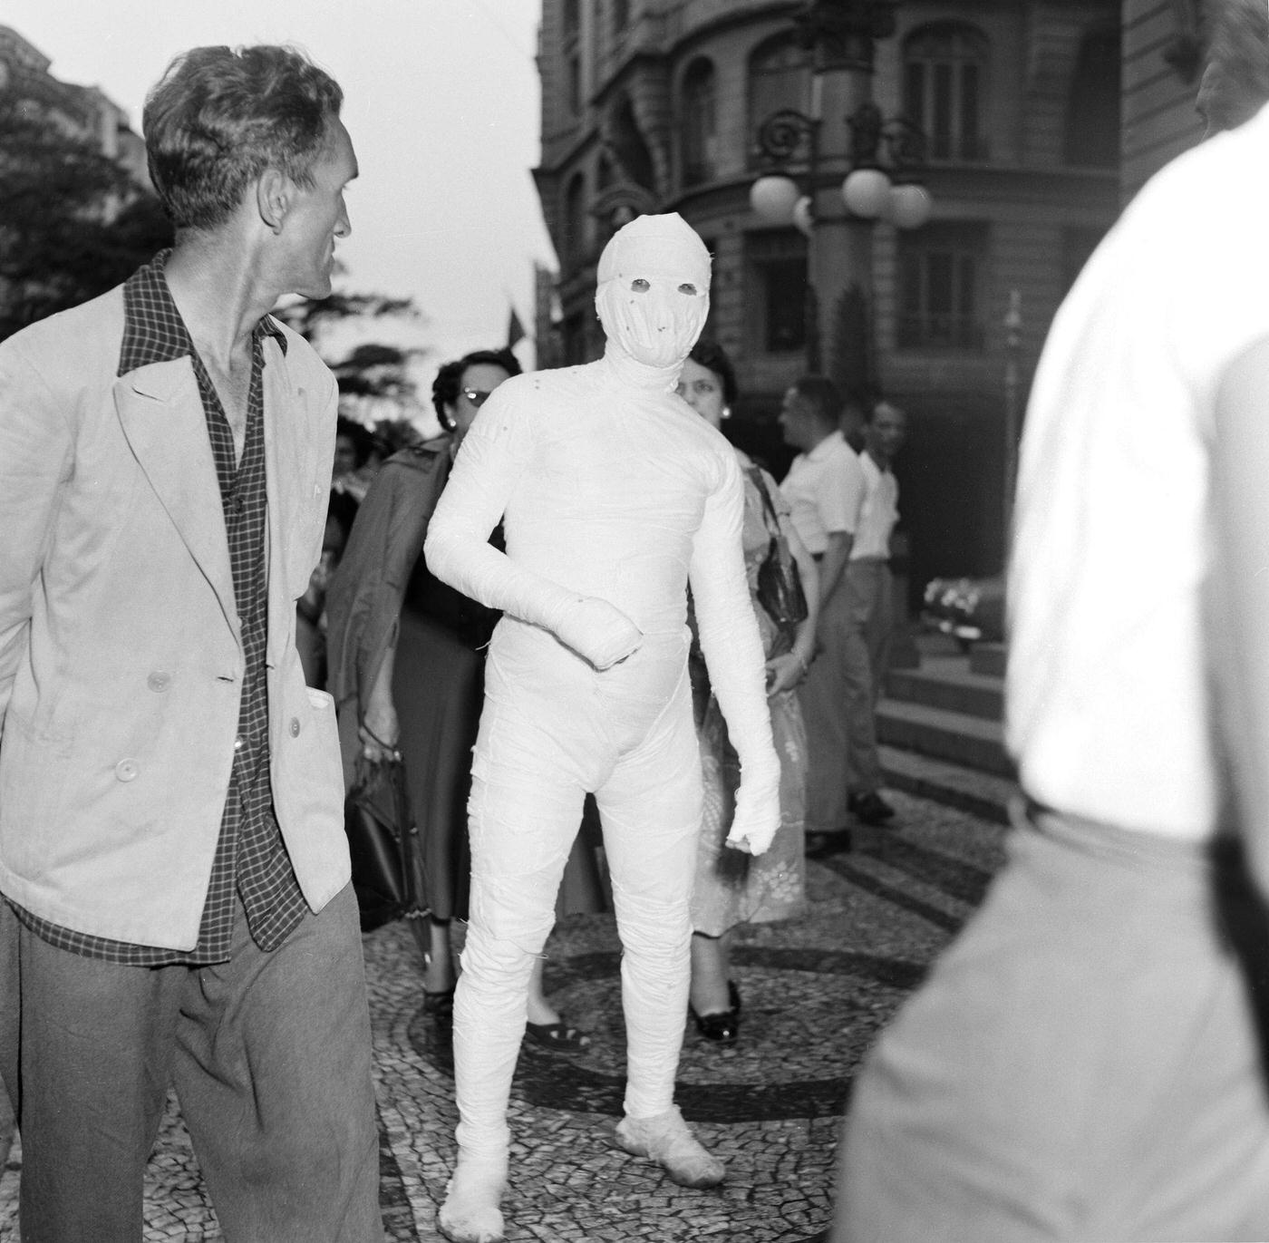
<svg viewBox="0 0 1269 1243">
<path fill-rule="evenodd" d="M 176 229 L 214 229 L 277 169 L 312 189 L 344 93 L 289 47 L 195 47 L 146 96 L 150 180 Z"/>
</svg>

